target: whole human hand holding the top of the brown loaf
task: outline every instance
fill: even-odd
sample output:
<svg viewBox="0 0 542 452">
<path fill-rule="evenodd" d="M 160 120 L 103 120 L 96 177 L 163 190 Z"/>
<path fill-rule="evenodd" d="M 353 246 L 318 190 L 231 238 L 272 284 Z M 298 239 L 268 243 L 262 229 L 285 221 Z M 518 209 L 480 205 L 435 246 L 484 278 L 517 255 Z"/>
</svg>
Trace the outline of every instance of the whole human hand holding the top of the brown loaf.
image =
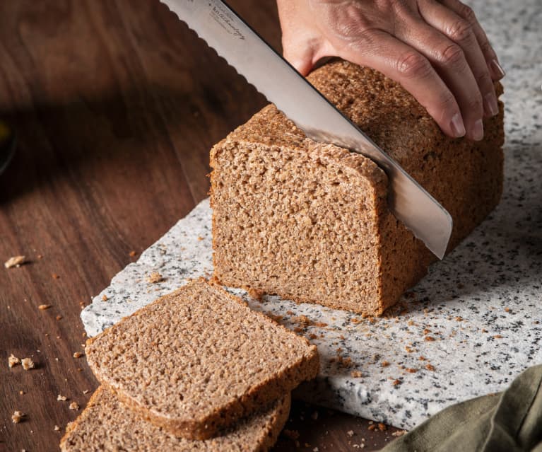
<svg viewBox="0 0 542 452">
<path fill-rule="evenodd" d="M 406 88 L 450 137 L 483 138 L 505 72 L 459 0 L 277 0 L 284 56 L 302 75 L 322 57 L 370 66 Z"/>
</svg>

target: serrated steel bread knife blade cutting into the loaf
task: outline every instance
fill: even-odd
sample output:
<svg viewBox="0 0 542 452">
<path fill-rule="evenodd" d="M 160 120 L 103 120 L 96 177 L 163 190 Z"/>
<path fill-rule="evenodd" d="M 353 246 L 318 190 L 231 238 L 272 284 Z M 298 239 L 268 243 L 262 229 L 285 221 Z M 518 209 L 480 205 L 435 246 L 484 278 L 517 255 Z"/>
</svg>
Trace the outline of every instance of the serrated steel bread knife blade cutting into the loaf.
<svg viewBox="0 0 542 452">
<path fill-rule="evenodd" d="M 307 137 L 371 158 L 389 178 L 389 209 L 439 259 L 452 216 L 221 0 L 162 0 Z"/>
</svg>

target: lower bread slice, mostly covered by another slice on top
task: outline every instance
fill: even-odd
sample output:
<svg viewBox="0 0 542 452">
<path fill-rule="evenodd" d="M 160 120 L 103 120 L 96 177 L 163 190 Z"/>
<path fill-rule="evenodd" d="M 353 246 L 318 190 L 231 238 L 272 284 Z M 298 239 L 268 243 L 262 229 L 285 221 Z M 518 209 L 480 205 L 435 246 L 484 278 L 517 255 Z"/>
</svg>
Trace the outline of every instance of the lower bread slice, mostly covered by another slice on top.
<svg viewBox="0 0 542 452">
<path fill-rule="evenodd" d="M 81 415 L 66 427 L 63 452 L 264 452 L 275 444 L 290 412 L 290 394 L 205 441 L 174 436 L 144 421 L 100 386 Z"/>
</svg>

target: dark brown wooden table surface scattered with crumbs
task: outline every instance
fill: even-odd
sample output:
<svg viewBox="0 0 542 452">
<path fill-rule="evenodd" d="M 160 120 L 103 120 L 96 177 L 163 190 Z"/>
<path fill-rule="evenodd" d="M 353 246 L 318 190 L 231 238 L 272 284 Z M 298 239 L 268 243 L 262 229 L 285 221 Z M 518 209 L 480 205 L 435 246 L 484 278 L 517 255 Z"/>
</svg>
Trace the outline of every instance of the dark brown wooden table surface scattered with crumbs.
<svg viewBox="0 0 542 452">
<path fill-rule="evenodd" d="M 273 0 L 231 4 L 280 48 Z M 0 2 L 0 119 L 18 134 L 0 175 L 0 264 L 28 258 L 0 267 L 0 451 L 58 449 L 81 412 L 70 402 L 83 409 L 98 386 L 73 357 L 81 308 L 206 197 L 208 150 L 265 103 L 157 0 Z M 35 369 L 9 369 L 10 354 Z M 394 438 L 369 427 L 295 402 L 298 449 L 282 435 L 274 450 Z"/>
</svg>

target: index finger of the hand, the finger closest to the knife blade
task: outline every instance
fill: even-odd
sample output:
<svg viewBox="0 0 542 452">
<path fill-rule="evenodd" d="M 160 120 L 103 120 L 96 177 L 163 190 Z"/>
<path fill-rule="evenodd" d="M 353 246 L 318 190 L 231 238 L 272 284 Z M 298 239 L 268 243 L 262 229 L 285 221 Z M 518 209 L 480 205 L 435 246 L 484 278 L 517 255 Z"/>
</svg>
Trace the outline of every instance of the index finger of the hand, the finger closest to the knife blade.
<svg viewBox="0 0 542 452">
<path fill-rule="evenodd" d="M 360 39 L 337 49 L 338 56 L 370 66 L 401 83 L 449 137 L 466 133 L 461 110 L 446 83 L 427 58 L 382 30 L 369 30 Z"/>
</svg>

